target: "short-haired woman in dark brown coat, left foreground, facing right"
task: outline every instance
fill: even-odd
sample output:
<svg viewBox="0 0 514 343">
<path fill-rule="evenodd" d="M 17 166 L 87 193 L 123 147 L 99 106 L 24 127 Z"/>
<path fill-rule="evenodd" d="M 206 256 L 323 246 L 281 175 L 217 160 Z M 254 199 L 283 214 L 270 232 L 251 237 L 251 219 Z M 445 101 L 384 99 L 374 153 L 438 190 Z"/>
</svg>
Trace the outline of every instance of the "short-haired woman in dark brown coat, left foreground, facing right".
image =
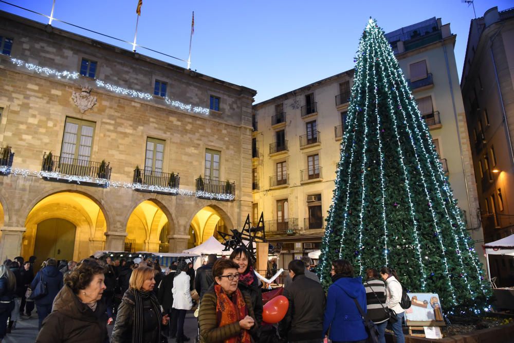
<svg viewBox="0 0 514 343">
<path fill-rule="evenodd" d="M 66 275 L 36 343 L 108 343 L 105 305 L 100 301 L 103 272 L 97 261 L 87 258 Z"/>
</svg>

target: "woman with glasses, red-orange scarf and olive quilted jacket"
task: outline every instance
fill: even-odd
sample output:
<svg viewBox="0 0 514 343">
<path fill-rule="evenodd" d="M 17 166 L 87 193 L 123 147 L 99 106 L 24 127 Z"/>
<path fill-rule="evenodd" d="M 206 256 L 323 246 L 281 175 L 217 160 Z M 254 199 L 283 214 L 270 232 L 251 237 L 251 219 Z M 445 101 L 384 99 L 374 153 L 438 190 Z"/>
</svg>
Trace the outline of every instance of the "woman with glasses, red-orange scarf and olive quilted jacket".
<svg viewBox="0 0 514 343">
<path fill-rule="evenodd" d="M 258 328 L 248 294 L 237 288 L 238 265 L 218 259 L 212 266 L 213 285 L 201 298 L 198 321 L 201 343 L 251 343 Z"/>
</svg>

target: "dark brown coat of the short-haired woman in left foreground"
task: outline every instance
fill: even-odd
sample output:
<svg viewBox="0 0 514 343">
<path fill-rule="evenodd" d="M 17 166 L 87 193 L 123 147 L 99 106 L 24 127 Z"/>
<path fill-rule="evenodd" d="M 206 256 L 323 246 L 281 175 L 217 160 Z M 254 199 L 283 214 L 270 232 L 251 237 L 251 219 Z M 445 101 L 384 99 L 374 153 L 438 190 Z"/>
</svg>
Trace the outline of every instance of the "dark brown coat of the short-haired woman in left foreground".
<svg viewBox="0 0 514 343">
<path fill-rule="evenodd" d="M 80 301 L 67 285 L 53 302 L 36 343 L 108 343 L 105 304 L 97 302 L 95 311 Z"/>
</svg>

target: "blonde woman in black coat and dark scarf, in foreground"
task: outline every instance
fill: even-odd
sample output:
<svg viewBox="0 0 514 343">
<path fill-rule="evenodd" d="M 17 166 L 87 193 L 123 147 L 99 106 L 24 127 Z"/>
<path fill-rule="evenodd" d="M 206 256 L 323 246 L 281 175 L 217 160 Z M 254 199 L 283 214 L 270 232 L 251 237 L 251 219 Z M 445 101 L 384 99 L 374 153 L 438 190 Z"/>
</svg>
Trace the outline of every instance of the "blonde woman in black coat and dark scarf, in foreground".
<svg viewBox="0 0 514 343">
<path fill-rule="evenodd" d="M 129 288 L 121 299 L 111 343 L 159 343 L 161 324 L 168 324 L 154 295 L 155 270 L 141 266 L 132 272 Z"/>
</svg>

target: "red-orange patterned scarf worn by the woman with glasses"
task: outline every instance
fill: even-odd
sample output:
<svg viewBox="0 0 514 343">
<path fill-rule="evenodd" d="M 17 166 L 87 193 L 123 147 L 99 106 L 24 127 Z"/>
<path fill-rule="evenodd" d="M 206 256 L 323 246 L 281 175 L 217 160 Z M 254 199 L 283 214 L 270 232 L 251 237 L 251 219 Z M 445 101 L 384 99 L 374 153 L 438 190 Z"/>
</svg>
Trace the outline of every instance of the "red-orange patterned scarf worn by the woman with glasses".
<svg viewBox="0 0 514 343">
<path fill-rule="evenodd" d="M 215 284 L 214 292 L 216 293 L 216 317 L 218 327 L 224 327 L 228 324 L 238 322 L 248 315 L 245 299 L 240 290 L 235 290 L 232 299 L 223 292 L 222 286 Z M 224 340 L 224 343 L 250 343 L 250 334 L 248 330 L 241 329 L 239 336 L 230 337 Z"/>
</svg>

